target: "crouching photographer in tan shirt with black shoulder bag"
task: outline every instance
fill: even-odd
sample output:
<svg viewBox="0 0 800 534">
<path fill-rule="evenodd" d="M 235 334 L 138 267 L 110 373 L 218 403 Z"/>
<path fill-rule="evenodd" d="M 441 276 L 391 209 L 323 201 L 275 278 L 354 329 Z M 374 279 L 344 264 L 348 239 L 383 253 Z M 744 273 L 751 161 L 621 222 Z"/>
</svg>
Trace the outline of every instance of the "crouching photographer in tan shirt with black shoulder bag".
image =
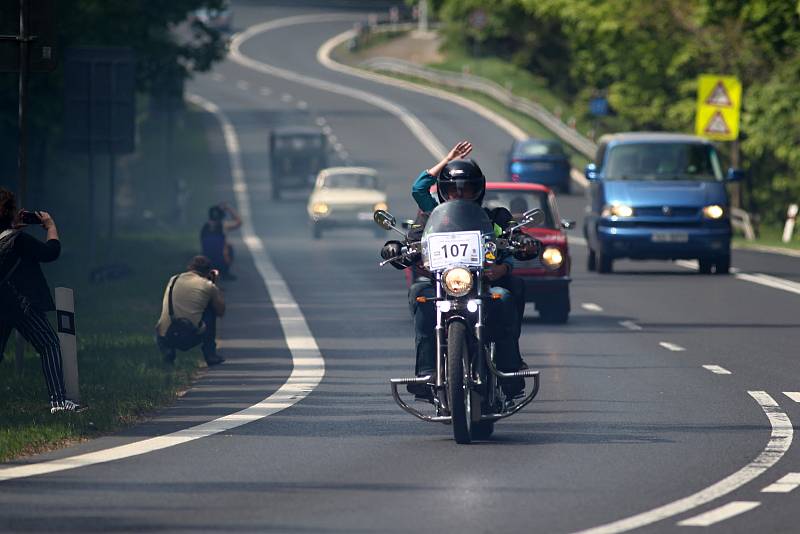
<svg viewBox="0 0 800 534">
<path fill-rule="evenodd" d="M 225 296 L 217 286 L 219 271 L 206 256 L 195 256 L 186 272 L 170 278 L 164 291 L 156 344 L 172 364 L 176 350 L 201 346 L 208 366 L 225 358 L 217 353 L 217 317 L 225 314 Z"/>
</svg>

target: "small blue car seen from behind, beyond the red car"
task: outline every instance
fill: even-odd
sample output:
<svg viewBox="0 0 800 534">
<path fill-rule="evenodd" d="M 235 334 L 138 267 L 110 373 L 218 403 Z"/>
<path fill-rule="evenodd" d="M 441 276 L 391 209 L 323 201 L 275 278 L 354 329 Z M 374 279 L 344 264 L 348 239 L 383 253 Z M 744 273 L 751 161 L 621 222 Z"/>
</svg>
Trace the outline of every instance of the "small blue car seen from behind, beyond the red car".
<svg viewBox="0 0 800 534">
<path fill-rule="evenodd" d="M 542 184 L 560 193 L 570 191 L 569 157 L 558 141 L 514 141 L 508 153 L 507 169 L 512 182 Z"/>
</svg>

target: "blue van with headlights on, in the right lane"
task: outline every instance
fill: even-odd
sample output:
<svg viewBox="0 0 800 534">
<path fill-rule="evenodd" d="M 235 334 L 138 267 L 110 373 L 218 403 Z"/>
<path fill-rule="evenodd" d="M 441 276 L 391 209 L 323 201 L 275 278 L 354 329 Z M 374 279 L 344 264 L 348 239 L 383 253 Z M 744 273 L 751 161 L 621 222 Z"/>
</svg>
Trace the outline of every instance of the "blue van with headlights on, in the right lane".
<svg viewBox="0 0 800 534">
<path fill-rule="evenodd" d="M 731 265 L 726 181 L 714 145 L 693 135 L 630 132 L 600 138 L 586 166 L 583 232 L 588 269 L 608 273 L 617 258 L 697 259 L 701 273 Z"/>
</svg>

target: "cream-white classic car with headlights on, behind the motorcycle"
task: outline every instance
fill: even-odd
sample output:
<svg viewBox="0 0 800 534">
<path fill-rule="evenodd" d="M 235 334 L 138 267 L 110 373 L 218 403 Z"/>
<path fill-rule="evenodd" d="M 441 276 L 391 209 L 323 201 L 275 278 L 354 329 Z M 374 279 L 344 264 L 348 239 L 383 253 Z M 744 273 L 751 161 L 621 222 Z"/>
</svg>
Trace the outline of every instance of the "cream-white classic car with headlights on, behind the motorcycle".
<svg viewBox="0 0 800 534">
<path fill-rule="evenodd" d="M 385 231 L 372 221 L 375 210 L 388 210 L 383 180 L 368 167 L 330 167 L 317 175 L 308 199 L 311 235 L 322 237 L 330 228 L 371 228 L 376 235 Z"/>
</svg>

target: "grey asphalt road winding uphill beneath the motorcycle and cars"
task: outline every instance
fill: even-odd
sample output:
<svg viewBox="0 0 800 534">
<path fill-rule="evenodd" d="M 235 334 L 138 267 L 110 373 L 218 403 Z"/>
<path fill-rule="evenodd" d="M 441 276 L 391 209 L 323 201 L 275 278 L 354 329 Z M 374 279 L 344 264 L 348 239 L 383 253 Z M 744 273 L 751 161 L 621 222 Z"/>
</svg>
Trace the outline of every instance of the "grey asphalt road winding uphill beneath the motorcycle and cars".
<svg viewBox="0 0 800 534">
<path fill-rule="evenodd" d="M 472 140 L 484 171 L 501 175 L 511 137 L 491 122 L 317 62 L 320 45 L 362 15 L 319 2 L 237 3 L 235 13 L 239 29 L 312 13 L 345 16 L 258 33 L 241 52 L 380 95 L 445 146 Z M 457 446 L 449 427 L 413 419 L 391 399 L 387 379 L 413 372 L 413 331 L 402 275 L 377 267 L 382 240 L 359 230 L 312 240 L 305 197 L 269 195 L 267 132 L 275 125 L 324 120 L 342 145 L 339 161 L 386 176 L 398 218 L 413 213 L 410 184 L 433 163 L 429 150 L 374 105 L 232 60 L 188 91 L 216 104 L 238 137 L 247 184 L 240 198 L 324 358 L 324 376 L 289 397 L 290 406 L 242 426 L 0 481 L 0 530 L 573 532 L 611 524 L 606 531 L 671 532 L 698 528 L 679 522 L 713 512 L 705 528 L 716 532 L 797 531 L 800 493 L 762 489 L 800 472 L 790 423 L 800 406 L 784 393 L 800 390 L 800 295 L 748 275 L 797 281 L 800 259 L 735 251 L 743 276 L 626 261 L 598 275 L 585 270 L 585 247 L 574 239 L 569 323 L 546 325 L 530 310 L 523 328 L 526 360 L 542 371 L 539 398 L 499 423 L 491 441 Z M 208 125 L 220 196 L 233 198 L 225 139 L 212 115 Z M 559 205 L 562 216 L 580 220 L 580 194 Z M 281 329 L 288 305 L 276 298 L 277 278 L 264 276 L 260 256 L 237 245 L 240 279 L 226 287 L 231 305 L 221 332 L 228 361 L 150 423 L 18 465 L 192 428 L 281 387 L 296 357 L 296 341 Z M 634 519 L 617 523 L 626 518 Z"/>
</svg>

